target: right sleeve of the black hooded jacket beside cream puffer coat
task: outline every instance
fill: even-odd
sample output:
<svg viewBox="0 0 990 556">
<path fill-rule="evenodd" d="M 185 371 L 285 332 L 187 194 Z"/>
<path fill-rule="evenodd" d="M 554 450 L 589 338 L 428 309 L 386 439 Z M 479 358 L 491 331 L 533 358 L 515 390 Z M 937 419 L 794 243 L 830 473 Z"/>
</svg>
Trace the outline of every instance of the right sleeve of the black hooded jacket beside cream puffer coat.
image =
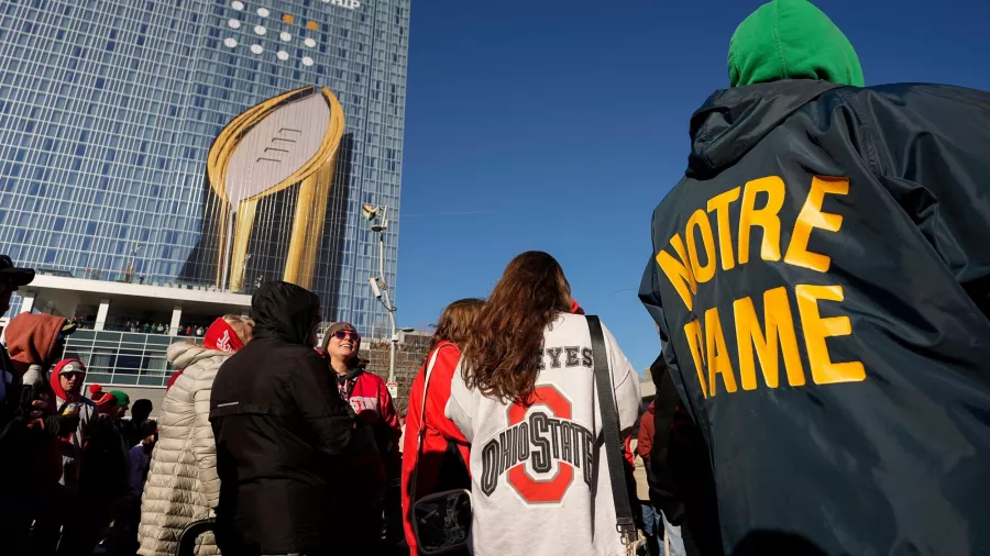
<svg viewBox="0 0 990 556">
<path fill-rule="evenodd" d="M 296 363 L 297 372 L 287 381 L 289 396 L 302 420 L 309 425 L 317 448 L 339 456 L 351 443 L 354 420 L 330 377 L 327 366 L 314 351 Z"/>
</svg>

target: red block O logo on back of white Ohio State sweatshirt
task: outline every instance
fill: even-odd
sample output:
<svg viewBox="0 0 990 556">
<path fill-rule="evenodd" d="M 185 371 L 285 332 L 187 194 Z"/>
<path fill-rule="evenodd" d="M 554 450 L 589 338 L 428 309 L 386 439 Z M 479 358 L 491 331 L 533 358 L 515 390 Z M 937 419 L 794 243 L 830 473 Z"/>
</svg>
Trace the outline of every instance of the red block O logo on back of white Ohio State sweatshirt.
<svg viewBox="0 0 990 556">
<path fill-rule="evenodd" d="M 534 391 L 537 402 L 534 405 L 544 405 L 553 416 L 558 419 L 571 419 L 571 402 L 560 393 L 556 387 L 538 386 Z M 509 426 L 517 425 L 526 420 L 526 409 L 513 404 L 508 410 Z M 530 503 L 552 503 L 563 499 L 571 482 L 574 481 L 574 467 L 562 460 L 558 460 L 557 475 L 547 480 L 536 480 L 526 470 L 526 464 L 519 463 L 508 471 L 508 483 Z"/>
</svg>

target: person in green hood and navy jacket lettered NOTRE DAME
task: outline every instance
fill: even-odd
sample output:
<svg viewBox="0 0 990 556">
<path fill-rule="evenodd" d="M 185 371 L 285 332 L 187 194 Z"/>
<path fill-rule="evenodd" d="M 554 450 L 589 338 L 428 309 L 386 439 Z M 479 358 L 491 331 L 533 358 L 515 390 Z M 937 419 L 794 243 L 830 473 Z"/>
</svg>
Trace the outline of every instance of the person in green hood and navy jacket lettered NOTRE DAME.
<svg viewBox="0 0 990 556">
<path fill-rule="evenodd" d="M 985 552 L 990 93 L 868 87 L 804 0 L 738 26 L 728 84 L 691 118 L 639 291 L 711 463 L 685 538 Z"/>
</svg>

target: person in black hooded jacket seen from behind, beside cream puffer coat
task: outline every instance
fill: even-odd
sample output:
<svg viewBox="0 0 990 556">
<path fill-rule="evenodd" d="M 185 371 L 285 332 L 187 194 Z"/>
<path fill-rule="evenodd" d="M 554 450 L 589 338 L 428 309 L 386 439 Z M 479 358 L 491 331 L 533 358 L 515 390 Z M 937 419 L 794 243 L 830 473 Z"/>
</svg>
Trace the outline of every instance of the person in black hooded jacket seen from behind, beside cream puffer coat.
<svg viewBox="0 0 990 556">
<path fill-rule="evenodd" d="M 220 367 L 210 400 L 223 554 L 344 554 L 337 486 L 354 419 L 317 354 L 319 298 L 263 285 L 254 340 Z"/>
</svg>

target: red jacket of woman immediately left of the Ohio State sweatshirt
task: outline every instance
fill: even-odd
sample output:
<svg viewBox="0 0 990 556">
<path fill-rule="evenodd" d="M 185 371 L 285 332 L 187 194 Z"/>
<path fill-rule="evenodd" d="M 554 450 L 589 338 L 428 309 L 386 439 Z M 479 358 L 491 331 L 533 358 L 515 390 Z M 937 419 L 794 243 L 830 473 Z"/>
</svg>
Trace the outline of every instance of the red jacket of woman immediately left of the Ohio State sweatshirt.
<svg viewBox="0 0 990 556">
<path fill-rule="evenodd" d="M 430 375 L 430 388 L 427 392 L 426 416 L 420 415 L 422 410 L 422 390 L 426 381 L 426 366 L 429 364 L 433 352 L 437 362 Z M 450 399 L 450 382 L 461 358 L 461 352 L 450 342 L 440 342 L 433 352 L 427 357 L 419 374 L 413 380 L 413 389 L 409 392 L 409 407 L 406 410 L 406 437 L 403 446 L 403 525 L 406 530 L 406 542 L 409 543 L 409 554 L 418 554 L 416 537 L 413 534 L 413 522 L 409 518 L 409 508 L 413 498 L 409 496 L 409 482 L 413 470 L 419 463 L 417 451 L 419 431 L 426 423 L 426 436 L 422 442 L 422 465 L 419 466 L 416 479 L 416 499 L 437 492 L 437 482 L 440 475 L 440 466 L 447 453 L 448 442 L 454 443 L 461 454 L 464 465 L 471 460 L 470 445 L 458 427 L 447 419 L 444 410 Z"/>
</svg>

